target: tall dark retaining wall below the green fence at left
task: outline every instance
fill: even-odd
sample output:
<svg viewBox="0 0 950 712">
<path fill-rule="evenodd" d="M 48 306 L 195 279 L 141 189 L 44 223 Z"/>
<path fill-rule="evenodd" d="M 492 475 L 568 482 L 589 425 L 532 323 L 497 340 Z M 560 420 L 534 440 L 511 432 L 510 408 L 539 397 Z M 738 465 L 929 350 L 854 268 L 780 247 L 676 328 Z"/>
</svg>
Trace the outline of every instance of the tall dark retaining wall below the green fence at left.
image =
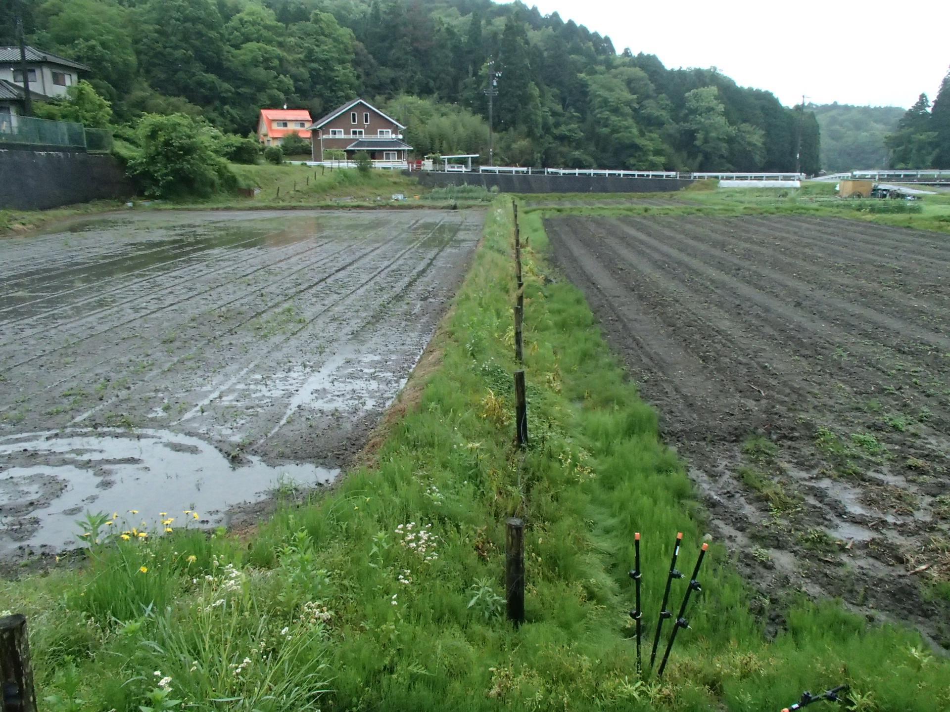
<svg viewBox="0 0 950 712">
<path fill-rule="evenodd" d="M 0 208 L 42 210 L 134 192 L 111 156 L 0 149 Z"/>
</svg>

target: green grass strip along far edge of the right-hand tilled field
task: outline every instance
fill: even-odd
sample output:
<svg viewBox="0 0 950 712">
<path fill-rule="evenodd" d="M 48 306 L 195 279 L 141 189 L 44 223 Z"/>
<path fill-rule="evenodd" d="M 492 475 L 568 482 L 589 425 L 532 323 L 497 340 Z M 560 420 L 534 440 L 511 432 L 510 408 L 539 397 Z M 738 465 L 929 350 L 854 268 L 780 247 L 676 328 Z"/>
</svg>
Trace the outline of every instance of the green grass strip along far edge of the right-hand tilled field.
<svg viewBox="0 0 950 712">
<path fill-rule="evenodd" d="M 922 186 L 926 189 L 926 186 Z M 522 196 L 530 201 L 554 200 L 547 195 Z M 576 206 L 536 205 L 527 211 L 544 215 L 815 215 L 847 217 L 883 225 L 950 233 L 950 193 L 940 191 L 921 200 L 848 200 L 835 197 L 834 183 L 806 182 L 801 188 L 730 188 L 718 190 L 714 181 L 693 183 L 677 193 L 566 194 L 558 200 L 577 200 Z M 594 200 L 629 199 L 628 205 L 580 205 Z M 646 205 L 650 198 L 669 200 L 669 205 Z M 685 204 L 684 204 L 685 203 Z"/>
</svg>

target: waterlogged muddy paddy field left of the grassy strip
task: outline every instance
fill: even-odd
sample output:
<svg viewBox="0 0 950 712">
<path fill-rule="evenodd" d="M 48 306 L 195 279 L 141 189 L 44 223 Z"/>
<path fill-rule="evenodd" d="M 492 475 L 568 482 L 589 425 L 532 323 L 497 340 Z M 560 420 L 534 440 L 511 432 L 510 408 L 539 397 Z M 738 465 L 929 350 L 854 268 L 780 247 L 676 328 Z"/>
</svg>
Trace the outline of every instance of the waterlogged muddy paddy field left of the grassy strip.
<svg viewBox="0 0 950 712">
<path fill-rule="evenodd" d="M 483 220 L 126 214 L 0 243 L 0 550 L 61 546 L 86 510 L 231 523 L 276 486 L 332 479 Z"/>
</svg>

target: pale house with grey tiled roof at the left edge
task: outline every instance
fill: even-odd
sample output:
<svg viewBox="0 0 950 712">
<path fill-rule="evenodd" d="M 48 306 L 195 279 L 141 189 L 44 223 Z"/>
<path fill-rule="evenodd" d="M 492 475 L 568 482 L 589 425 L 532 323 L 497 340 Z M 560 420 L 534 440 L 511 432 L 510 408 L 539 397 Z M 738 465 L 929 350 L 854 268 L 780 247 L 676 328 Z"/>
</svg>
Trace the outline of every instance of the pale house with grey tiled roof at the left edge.
<svg viewBox="0 0 950 712">
<path fill-rule="evenodd" d="M 20 47 L 0 47 L 0 113 L 22 113 L 23 64 Z M 66 96 L 66 89 L 79 83 L 79 73 L 89 67 L 65 57 L 27 47 L 29 98 L 46 102 Z"/>
</svg>

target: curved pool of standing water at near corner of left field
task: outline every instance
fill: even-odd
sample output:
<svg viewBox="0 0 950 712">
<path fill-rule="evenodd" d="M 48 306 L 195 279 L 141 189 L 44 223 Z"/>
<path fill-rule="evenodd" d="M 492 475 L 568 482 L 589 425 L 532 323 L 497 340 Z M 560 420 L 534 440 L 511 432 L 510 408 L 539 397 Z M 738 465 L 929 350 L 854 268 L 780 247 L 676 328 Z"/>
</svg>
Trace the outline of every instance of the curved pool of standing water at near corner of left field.
<svg viewBox="0 0 950 712">
<path fill-rule="evenodd" d="M 254 457 L 235 466 L 205 440 L 151 429 L 11 436 L 0 440 L 0 462 L 0 521 L 12 541 L 40 551 L 73 544 L 86 512 L 152 531 L 163 528 L 161 513 L 175 518 L 172 526 L 219 526 L 232 505 L 280 487 L 327 484 L 339 473 Z"/>
</svg>

